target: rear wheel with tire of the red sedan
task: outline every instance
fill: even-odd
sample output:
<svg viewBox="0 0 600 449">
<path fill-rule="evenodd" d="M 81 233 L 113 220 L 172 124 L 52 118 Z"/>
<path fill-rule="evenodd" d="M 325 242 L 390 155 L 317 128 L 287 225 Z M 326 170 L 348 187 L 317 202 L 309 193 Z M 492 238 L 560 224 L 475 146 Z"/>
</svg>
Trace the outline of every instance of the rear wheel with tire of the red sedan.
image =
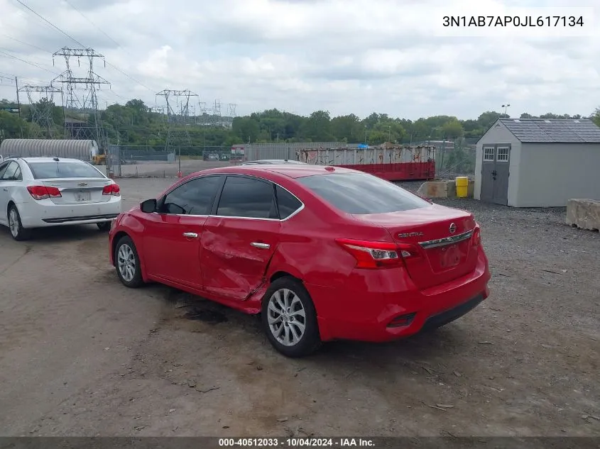
<svg viewBox="0 0 600 449">
<path fill-rule="evenodd" d="M 281 306 L 285 306 L 283 313 Z M 261 318 L 271 345 L 286 357 L 305 357 L 321 345 L 315 304 L 293 277 L 281 277 L 271 284 L 263 298 Z"/>
</svg>

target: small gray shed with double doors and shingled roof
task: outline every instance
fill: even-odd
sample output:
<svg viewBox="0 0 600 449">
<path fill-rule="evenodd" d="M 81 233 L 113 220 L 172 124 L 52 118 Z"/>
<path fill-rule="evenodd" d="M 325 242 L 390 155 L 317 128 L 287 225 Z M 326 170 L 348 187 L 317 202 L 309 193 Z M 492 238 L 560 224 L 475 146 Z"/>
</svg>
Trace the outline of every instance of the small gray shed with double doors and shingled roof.
<svg viewBox="0 0 600 449">
<path fill-rule="evenodd" d="M 600 199 L 600 128 L 587 118 L 500 118 L 477 142 L 475 199 L 564 207 Z"/>
</svg>

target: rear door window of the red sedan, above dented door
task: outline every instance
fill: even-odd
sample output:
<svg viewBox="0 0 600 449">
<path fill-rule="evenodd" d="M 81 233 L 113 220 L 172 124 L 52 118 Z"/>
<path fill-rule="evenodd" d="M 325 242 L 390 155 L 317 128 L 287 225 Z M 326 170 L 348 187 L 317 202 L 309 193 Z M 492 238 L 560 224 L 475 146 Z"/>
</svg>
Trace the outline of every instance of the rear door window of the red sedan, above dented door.
<svg viewBox="0 0 600 449">
<path fill-rule="evenodd" d="M 228 176 L 217 215 L 277 219 L 273 184 L 261 179 Z"/>
</svg>

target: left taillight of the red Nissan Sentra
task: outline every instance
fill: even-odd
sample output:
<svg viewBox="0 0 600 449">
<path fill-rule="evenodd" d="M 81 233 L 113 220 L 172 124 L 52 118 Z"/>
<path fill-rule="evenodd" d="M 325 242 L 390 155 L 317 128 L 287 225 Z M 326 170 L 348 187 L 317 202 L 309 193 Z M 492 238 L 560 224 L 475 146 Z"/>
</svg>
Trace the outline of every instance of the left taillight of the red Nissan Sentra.
<svg viewBox="0 0 600 449">
<path fill-rule="evenodd" d="M 388 268 L 402 265 L 398 245 L 388 242 L 371 242 L 337 238 L 335 241 L 356 259 L 356 268 Z"/>
</svg>

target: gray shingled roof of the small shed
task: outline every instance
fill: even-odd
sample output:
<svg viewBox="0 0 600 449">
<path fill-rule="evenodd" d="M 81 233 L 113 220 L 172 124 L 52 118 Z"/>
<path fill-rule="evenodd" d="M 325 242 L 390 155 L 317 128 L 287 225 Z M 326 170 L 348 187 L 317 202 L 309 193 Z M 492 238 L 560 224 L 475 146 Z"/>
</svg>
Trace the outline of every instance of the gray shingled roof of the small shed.
<svg viewBox="0 0 600 449">
<path fill-rule="evenodd" d="M 589 118 L 499 118 L 526 143 L 600 143 L 600 127 Z"/>
</svg>

